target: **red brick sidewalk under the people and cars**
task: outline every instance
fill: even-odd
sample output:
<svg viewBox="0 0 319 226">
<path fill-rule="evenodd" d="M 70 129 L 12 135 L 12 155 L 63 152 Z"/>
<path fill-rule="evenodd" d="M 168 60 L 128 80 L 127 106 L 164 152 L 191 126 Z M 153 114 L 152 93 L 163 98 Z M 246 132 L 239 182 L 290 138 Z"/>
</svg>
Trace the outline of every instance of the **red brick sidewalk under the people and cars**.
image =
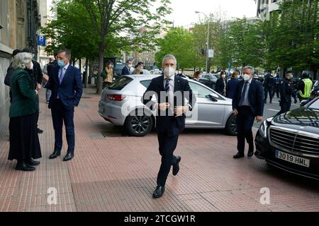
<svg viewBox="0 0 319 226">
<path fill-rule="evenodd" d="M 54 132 L 44 90 L 40 95 L 39 127 L 45 132 L 35 172 L 18 172 L 16 162 L 6 160 L 8 127 L 0 128 L 0 211 L 319 211 L 318 182 L 255 157 L 233 160 L 236 138 L 219 130 L 186 130 L 180 136 L 181 170 L 169 175 L 164 196 L 153 199 L 160 163 L 156 133 L 122 136 L 97 114 L 99 95 L 92 89 L 76 109 L 74 160 L 48 160 Z M 47 203 L 51 187 L 57 189 L 56 205 Z M 263 187 L 269 188 L 269 205 L 260 203 Z"/>
</svg>

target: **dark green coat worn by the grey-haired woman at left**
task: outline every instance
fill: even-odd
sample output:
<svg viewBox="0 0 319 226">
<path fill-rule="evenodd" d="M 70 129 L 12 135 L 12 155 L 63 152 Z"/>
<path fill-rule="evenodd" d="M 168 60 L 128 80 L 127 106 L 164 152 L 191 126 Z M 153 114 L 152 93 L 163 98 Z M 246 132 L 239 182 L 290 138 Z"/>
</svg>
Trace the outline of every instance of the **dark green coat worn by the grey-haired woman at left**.
<svg viewBox="0 0 319 226">
<path fill-rule="evenodd" d="M 12 103 L 9 117 L 21 117 L 34 114 L 37 111 L 36 92 L 33 88 L 33 78 L 26 70 L 13 71 L 10 81 Z"/>
</svg>

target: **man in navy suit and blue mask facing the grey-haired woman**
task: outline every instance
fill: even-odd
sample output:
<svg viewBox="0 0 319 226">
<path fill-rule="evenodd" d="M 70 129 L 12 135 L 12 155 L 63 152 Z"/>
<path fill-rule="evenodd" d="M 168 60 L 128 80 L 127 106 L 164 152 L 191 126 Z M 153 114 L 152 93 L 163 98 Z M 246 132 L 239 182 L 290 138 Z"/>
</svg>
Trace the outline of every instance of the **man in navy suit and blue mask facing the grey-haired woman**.
<svg viewBox="0 0 319 226">
<path fill-rule="evenodd" d="M 74 107 L 79 105 L 82 97 L 81 72 L 69 64 L 70 59 L 71 52 L 68 49 L 62 49 L 57 52 L 58 66 L 52 67 L 49 81 L 45 84 L 45 88 L 52 91 L 49 108 L 52 112 L 53 127 L 55 129 L 55 150 L 50 155 L 50 159 L 55 159 L 61 155 L 62 126 L 64 122 L 68 149 L 63 161 L 72 160 L 74 157 Z"/>
</svg>

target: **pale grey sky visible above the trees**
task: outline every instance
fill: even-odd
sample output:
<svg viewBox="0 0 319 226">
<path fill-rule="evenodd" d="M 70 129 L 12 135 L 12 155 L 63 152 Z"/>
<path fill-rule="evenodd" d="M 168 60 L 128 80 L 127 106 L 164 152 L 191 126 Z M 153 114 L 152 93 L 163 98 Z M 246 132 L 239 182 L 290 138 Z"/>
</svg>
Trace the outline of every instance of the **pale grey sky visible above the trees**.
<svg viewBox="0 0 319 226">
<path fill-rule="evenodd" d="M 226 13 L 226 18 L 247 18 L 256 16 L 257 4 L 254 0 L 171 0 L 173 12 L 169 16 L 175 25 L 184 26 L 198 22 L 199 15 L 194 11 L 203 13 L 215 13 L 221 11 Z M 203 18 L 201 14 L 201 18 Z"/>
</svg>

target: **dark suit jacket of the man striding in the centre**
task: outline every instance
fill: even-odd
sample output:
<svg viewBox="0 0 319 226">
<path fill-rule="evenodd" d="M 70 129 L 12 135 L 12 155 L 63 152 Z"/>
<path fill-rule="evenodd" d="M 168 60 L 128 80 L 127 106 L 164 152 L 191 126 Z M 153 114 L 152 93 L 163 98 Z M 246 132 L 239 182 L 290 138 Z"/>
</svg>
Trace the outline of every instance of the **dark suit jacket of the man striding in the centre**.
<svg viewBox="0 0 319 226">
<path fill-rule="evenodd" d="M 186 79 L 176 75 L 175 81 L 174 81 L 174 92 L 178 92 L 178 91 L 180 91 L 182 100 L 177 100 L 177 102 L 181 101 L 180 104 L 184 106 L 185 105 L 184 100 L 186 98 L 187 100 L 189 100 L 189 105 L 191 105 L 191 109 L 193 109 L 196 102 L 196 97 L 193 94 L 193 91 L 191 90 L 191 88 L 189 87 L 189 82 Z M 154 106 L 156 103 L 167 102 L 166 97 L 162 98 L 164 100 L 161 99 L 161 92 L 165 92 L 163 75 L 152 79 L 141 101 L 143 102 L 144 105 L 147 105 L 147 107 L 150 107 L 150 109 L 152 110 L 154 109 Z M 187 93 L 184 93 L 184 92 L 189 92 L 189 95 L 186 95 Z M 157 97 L 157 102 L 152 101 L 152 94 L 155 94 L 155 96 Z M 177 117 L 179 132 L 183 131 L 183 129 L 185 128 L 185 118 L 186 117 L 184 114 L 180 117 Z M 163 112 L 160 112 L 160 110 L 158 110 L 158 114 L 156 117 L 157 131 L 166 131 L 170 126 L 170 124 L 167 123 L 168 121 L 169 121 L 169 117 L 167 116 L 167 114 L 164 114 Z"/>
</svg>

